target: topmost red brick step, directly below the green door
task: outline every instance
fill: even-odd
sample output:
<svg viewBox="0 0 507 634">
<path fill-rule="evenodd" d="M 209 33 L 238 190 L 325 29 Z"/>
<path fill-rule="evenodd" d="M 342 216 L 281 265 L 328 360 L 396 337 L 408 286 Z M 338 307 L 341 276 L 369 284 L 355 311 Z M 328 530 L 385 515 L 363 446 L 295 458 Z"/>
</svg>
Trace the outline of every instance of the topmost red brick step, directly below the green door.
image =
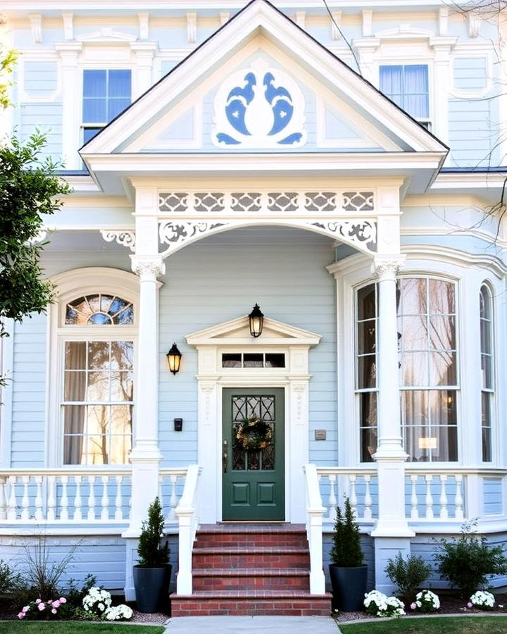
<svg viewBox="0 0 507 634">
<path fill-rule="evenodd" d="M 194 547 L 307 546 L 302 524 L 211 524 L 199 528 Z"/>
</svg>

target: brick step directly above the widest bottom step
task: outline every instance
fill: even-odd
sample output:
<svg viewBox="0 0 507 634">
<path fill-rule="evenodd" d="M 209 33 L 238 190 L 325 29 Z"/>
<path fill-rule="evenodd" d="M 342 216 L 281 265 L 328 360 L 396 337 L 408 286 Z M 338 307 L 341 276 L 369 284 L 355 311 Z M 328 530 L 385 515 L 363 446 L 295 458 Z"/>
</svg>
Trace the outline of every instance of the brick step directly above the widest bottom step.
<svg viewBox="0 0 507 634">
<path fill-rule="evenodd" d="M 194 590 L 306 590 L 310 573 L 303 568 L 206 568 L 195 570 Z"/>
</svg>

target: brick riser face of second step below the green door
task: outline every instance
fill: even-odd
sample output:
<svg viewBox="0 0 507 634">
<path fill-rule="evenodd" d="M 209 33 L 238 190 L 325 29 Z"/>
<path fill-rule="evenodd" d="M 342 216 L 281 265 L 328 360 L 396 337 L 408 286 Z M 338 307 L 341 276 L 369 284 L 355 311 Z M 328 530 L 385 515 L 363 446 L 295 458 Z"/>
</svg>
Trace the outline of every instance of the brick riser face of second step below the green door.
<svg viewBox="0 0 507 634">
<path fill-rule="evenodd" d="M 199 554 L 194 551 L 192 557 L 194 570 L 203 568 L 302 568 L 308 570 L 308 554 Z"/>
</svg>

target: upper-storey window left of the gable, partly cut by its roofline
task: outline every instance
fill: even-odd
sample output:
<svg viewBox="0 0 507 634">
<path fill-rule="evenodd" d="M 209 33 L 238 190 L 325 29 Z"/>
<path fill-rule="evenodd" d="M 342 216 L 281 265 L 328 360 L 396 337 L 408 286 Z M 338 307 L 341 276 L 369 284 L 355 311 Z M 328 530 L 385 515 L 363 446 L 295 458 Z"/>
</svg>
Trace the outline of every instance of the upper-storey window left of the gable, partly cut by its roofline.
<svg viewBox="0 0 507 634">
<path fill-rule="evenodd" d="M 120 69 L 83 71 L 83 143 L 130 105 L 131 72 Z"/>
</svg>

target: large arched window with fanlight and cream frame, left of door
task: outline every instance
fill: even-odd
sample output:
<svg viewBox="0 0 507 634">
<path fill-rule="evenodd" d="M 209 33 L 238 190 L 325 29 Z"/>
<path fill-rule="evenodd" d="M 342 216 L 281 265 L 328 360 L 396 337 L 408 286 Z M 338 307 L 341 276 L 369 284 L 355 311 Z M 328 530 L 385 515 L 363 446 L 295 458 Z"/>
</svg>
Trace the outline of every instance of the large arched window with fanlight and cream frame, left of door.
<svg viewBox="0 0 507 634">
<path fill-rule="evenodd" d="M 107 268 L 57 276 L 58 339 L 56 464 L 127 464 L 132 449 L 134 275 Z M 78 292 L 76 292 L 78 289 Z"/>
</svg>

